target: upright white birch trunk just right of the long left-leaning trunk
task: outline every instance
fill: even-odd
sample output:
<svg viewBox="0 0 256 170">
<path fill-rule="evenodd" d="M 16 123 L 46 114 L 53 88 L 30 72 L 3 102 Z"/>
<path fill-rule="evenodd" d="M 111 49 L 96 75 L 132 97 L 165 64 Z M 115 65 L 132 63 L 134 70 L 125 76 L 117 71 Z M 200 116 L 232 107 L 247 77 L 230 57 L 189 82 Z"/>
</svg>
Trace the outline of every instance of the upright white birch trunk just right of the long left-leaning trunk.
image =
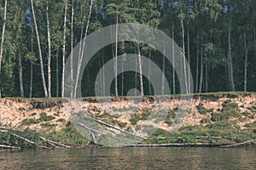
<svg viewBox="0 0 256 170">
<path fill-rule="evenodd" d="M 49 6 L 46 2 L 46 22 L 47 22 L 47 39 L 48 39 L 48 96 L 51 98 L 51 73 L 50 73 L 50 60 L 51 60 L 51 48 L 50 48 L 50 30 L 49 30 Z"/>
</svg>

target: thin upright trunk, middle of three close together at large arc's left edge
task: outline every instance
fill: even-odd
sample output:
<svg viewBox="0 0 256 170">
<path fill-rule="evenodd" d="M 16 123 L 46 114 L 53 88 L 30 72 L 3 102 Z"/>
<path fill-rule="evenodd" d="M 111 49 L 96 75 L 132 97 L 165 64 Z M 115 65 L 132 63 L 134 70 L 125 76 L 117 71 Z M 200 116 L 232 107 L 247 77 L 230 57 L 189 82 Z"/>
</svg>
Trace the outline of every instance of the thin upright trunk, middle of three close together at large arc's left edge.
<svg viewBox="0 0 256 170">
<path fill-rule="evenodd" d="M 73 84 L 73 0 L 72 0 L 72 9 L 71 9 L 71 54 L 70 54 L 70 78 Z M 73 98 L 73 87 L 71 88 L 70 97 Z"/>
</svg>

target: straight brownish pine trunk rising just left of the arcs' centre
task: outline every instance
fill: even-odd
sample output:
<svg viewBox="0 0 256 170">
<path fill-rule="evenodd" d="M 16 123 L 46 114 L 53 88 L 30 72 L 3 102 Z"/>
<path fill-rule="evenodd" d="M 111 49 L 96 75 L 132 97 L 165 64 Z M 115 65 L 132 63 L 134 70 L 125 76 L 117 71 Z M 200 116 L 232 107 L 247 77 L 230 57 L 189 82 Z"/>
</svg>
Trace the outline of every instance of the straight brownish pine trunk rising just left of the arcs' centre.
<svg viewBox="0 0 256 170">
<path fill-rule="evenodd" d="M 116 23 L 115 23 L 115 67 L 114 67 L 114 74 L 117 74 L 117 57 L 118 57 L 118 35 L 119 35 L 119 14 L 116 13 Z M 114 78 L 114 89 L 115 89 L 115 96 L 119 95 L 118 92 L 118 77 Z"/>
</svg>

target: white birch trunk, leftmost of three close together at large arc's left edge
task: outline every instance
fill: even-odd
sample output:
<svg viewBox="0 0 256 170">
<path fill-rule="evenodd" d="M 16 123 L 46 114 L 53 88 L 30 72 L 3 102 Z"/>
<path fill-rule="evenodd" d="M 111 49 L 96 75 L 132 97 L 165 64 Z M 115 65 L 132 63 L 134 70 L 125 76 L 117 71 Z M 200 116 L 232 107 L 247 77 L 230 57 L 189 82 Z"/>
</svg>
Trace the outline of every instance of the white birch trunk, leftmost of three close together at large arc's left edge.
<svg viewBox="0 0 256 170">
<path fill-rule="evenodd" d="M 64 98 L 64 90 L 65 90 L 65 66 L 66 66 L 66 24 L 67 24 L 67 0 L 65 2 L 65 11 L 64 11 L 64 31 L 63 31 L 63 48 L 62 48 L 62 78 L 61 78 L 61 97 Z"/>
</svg>

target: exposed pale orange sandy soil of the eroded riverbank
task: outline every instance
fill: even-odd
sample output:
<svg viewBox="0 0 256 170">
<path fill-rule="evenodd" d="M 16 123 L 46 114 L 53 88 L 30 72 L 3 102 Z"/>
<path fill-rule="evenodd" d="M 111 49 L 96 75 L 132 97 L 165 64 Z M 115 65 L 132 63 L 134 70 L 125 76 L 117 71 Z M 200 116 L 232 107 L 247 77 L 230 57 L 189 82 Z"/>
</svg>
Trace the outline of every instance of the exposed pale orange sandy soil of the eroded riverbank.
<svg viewBox="0 0 256 170">
<path fill-rule="evenodd" d="M 212 113 L 221 112 L 224 102 L 236 104 L 234 108 L 236 113 L 241 114 L 240 119 L 236 117 L 230 118 L 230 121 L 236 120 L 242 128 L 248 123 L 256 121 L 256 94 L 222 94 L 222 95 L 196 95 L 192 99 L 191 109 L 189 114 L 184 118 L 183 126 L 206 125 L 209 122 L 202 122 L 202 119 L 211 119 Z M 68 120 L 70 111 L 75 112 L 76 108 L 82 108 L 88 111 L 90 116 L 107 120 L 108 123 L 118 127 L 127 128 L 133 127 L 143 122 L 143 114 L 155 111 L 160 113 L 160 109 L 175 110 L 180 104 L 178 96 L 172 97 L 170 100 L 163 101 L 162 107 L 158 110 L 154 98 L 143 98 L 142 101 L 137 99 L 115 98 L 112 101 L 97 103 L 96 99 L 84 99 L 79 104 L 67 103 L 61 99 L 39 100 L 39 99 L 0 99 L 0 123 L 2 126 L 13 128 L 30 127 L 37 130 L 60 130 L 64 127 Z M 70 110 L 64 105 L 70 105 Z M 203 109 L 203 113 L 201 111 Z M 146 111 L 146 112 L 145 112 Z M 50 120 L 42 120 L 42 113 L 46 116 L 51 116 Z M 139 117 L 137 122 L 131 122 L 131 119 Z M 30 122 L 31 121 L 31 122 Z M 173 121 L 171 118 L 169 121 Z M 165 121 L 162 122 L 147 122 L 148 125 L 160 125 L 160 128 L 165 130 L 172 129 Z M 52 126 L 50 126 L 52 125 Z"/>
</svg>

